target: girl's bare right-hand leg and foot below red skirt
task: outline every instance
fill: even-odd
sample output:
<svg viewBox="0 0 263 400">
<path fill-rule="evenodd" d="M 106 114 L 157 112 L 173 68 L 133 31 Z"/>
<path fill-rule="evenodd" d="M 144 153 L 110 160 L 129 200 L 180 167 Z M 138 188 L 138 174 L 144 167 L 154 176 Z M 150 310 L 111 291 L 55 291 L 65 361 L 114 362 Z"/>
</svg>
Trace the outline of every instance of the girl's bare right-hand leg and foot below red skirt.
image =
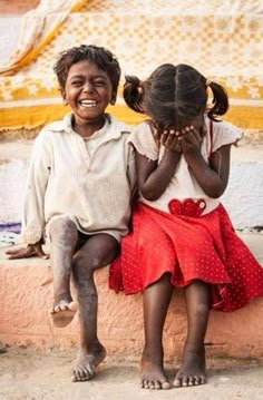
<svg viewBox="0 0 263 400">
<path fill-rule="evenodd" d="M 206 380 L 204 339 L 208 323 L 210 285 L 195 281 L 185 289 L 188 332 L 184 347 L 183 363 L 174 386 L 192 387 Z"/>
</svg>

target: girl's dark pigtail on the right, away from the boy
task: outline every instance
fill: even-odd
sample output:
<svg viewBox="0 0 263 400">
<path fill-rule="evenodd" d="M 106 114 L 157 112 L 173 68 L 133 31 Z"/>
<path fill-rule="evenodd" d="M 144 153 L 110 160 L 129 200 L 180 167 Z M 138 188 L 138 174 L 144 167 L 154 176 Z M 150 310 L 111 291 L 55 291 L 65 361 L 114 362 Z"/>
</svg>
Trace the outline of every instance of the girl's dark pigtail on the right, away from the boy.
<svg viewBox="0 0 263 400">
<path fill-rule="evenodd" d="M 216 120 L 216 116 L 224 115 L 228 109 L 228 95 L 225 88 L 214 81 L 206 81 L 206 86 L 213 92 L 213 106 L 208 108 L 207 116 L 212 120 Z"/>
</svg>

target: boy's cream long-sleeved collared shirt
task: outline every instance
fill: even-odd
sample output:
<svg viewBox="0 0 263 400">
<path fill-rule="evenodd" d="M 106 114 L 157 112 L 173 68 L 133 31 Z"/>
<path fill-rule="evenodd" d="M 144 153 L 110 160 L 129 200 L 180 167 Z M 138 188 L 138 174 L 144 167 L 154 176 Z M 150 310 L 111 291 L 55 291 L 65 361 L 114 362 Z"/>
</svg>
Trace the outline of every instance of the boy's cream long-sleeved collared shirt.
<svg viewBox="0 0 263 400">
<path fill-rule="evenodd" d="M 91 152 L 71 127 L 71 114 L 36 138 L 26 184 L 22 241 L 37 243 L 52 221 L 69 216 L 80 232 L 127 233 L 135 162 L 132 127 L 108 116 Z"/>
</svg>

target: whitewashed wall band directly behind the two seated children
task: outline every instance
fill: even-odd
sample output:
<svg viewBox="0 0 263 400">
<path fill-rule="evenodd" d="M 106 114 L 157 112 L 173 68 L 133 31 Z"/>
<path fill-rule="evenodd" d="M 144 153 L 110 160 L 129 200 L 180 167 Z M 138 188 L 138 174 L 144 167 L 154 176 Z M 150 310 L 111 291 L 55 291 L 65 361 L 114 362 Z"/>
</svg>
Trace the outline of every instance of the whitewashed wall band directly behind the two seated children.
<svg viewBox="0 0 263 400">
<path fill-rule="evenodd" d="M 32 142 L 0 143 L 0 224 L 19 222 Z M 222 196 L 236 228 L 263 226 L 262 145 L 232 149 L 228 187 Z"/>
</svg>

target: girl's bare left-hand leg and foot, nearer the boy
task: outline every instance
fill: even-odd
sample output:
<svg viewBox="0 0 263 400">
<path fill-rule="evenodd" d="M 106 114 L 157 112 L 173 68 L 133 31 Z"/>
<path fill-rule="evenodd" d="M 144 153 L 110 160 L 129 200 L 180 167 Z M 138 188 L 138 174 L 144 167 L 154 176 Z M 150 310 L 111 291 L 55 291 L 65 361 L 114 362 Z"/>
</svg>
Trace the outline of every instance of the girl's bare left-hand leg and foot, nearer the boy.
<svg viewBox="0 0 263 400">
<path fill-rule="evenodd" d="M 163 329 L 173 293 L 169 274 L 144 292 L 145 347 L 140 360 L 144 389 L 169 389 L 164 371 Z"/>
</svg>

